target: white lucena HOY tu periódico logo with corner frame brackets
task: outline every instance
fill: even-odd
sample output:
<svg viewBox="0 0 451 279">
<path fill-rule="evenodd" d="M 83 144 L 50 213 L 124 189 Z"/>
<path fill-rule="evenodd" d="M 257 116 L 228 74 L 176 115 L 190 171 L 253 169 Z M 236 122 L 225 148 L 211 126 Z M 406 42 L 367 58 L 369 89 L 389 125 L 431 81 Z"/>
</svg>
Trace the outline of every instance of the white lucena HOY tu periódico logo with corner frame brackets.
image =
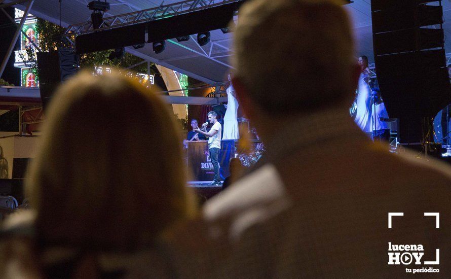
<svg viewBox="0 0 451 279">
<path fill-rule="evenodd" d="M 389 212 L 388 213 L 388 228 L 392 229 L 392 218 L 403 217 L 403 212 Z M 425 217 L 435 217 L 435 228 L 440 228 L 440 213 L 425 212 Z M 395 218 L 396 219 L 396 218 Z M 388 242 L 388 264 L 389 265 L 439 265 L 440 264 L 440 249 L 435 249 L 434 261 L 423 261 L 424 247 L 421 244 L 394 244 Z M 422 267 L 422 268 L 406 268 L 407 273 L 436 273 L 440 272 L 438 268 Z"/>
</svg>

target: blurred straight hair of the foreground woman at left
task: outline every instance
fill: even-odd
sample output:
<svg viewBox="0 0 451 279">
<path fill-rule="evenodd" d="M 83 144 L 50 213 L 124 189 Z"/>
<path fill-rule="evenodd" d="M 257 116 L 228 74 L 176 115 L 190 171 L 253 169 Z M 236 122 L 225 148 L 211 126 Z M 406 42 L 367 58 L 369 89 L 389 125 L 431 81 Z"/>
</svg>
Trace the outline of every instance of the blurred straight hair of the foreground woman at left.
<svg viewBox="0 0 451 279">
<path fill-rule="evenodd" d="M 173 119 L 121 75 L 83 73 L 59 88 L 26 184 L 39 236 L 131 250 L 193 215 Z"/>
</svg>

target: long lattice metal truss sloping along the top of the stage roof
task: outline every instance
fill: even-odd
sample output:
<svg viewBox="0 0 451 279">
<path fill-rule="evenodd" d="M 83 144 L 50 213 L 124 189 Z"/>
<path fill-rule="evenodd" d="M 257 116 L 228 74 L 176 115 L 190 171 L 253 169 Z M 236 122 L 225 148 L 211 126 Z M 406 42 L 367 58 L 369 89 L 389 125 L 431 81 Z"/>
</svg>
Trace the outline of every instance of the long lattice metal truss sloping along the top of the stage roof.
<svg viewBox="0 0 451 279">
<path fill-rule="evenodd" d="M 237 2 L 237 0 L 186 0 L 169 5 L 163 5 L 162 2 L 160 6 L 155 8 L 104 18 L 98 29 L 94 29 L 92 22 L 89 20 L 83 23 L 72 24 L 66 29 L 64 34 L 67 37 L 71 37 L 73 35 L 90 33 L 94 30 L 112 29 L 234 2 Z"/>
</svg>

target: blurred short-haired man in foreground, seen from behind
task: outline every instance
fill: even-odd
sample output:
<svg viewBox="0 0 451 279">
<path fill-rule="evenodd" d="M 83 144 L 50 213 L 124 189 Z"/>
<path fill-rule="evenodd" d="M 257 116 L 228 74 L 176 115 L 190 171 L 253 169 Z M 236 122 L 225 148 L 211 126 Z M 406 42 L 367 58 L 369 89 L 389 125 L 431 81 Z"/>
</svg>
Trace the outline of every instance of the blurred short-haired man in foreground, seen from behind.
<svg viewBox="0 0 451 279">
<path fill-rule="evenodd" d="M 233 84 L 270 163 L 174 232 L 179 277 L 403 278 L 423 267 L 451 276 L 449 168 L 388 153 L 349 117 L 360 68 L 342 4 L 257 0 L 239 10 Z M 403 216 L 389 228 L 391 212 Z M 439 213 L 440 227 L 424 213 Z M 439 265 L 427 263 L 436 249 Z M 419 264 L 412 252 L 424 253 Z"/>
</svg>

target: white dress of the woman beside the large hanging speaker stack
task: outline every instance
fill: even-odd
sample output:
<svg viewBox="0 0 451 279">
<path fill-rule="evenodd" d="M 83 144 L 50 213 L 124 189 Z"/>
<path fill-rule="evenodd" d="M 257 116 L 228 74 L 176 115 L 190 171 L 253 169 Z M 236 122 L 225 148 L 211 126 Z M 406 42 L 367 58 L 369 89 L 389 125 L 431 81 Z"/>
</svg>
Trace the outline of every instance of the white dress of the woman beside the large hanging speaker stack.
<svg viewBox="0 0 451 279">
<path fill-rule="evenodd" d="M 361 73 L 357 93 L 357 109 L 354 121 L 364 132 L 371 132 L 371 88 L 366 80 L 369 75 Z"/>
</svg>

